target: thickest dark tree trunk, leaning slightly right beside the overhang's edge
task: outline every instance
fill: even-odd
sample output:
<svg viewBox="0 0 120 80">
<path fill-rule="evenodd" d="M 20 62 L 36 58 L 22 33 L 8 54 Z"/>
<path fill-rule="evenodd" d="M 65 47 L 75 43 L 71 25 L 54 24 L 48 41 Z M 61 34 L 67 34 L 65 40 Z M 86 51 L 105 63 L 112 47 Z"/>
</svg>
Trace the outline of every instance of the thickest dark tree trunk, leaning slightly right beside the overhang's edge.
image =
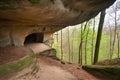
<svg viewBox="0 0 120 80">
<path fill-rule="evenodd" d="M 98 34 L 97 34 L 97 41 L 95 46 L 95 53 L 94 53 L 94 62 L 93 64 L 96 64 L 98 62 L 98 55 L 99 55 L 99 48 L 100 48 L 100 41 L 102 36 L 102 29 L 104 24 L 104 18 L 105 18 L 105 10 L 101 12 L 100 15 L 100 21 L 98 26 Z"/>
</svg>

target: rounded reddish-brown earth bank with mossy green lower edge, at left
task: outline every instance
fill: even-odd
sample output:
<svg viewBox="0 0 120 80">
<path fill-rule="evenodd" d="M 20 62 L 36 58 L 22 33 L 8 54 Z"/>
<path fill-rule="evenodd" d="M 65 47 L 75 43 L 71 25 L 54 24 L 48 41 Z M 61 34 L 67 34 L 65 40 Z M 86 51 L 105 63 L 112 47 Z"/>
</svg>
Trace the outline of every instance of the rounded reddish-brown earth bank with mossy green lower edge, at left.
<svg viewBox="0 0 120 80">
<path fill-rule="evenodd" d="M 13 73 L 30 66 L 34 60 L 35 54 L 28 48 L 0 48 L 0 80 L 7 80 Z"/>
</svg>

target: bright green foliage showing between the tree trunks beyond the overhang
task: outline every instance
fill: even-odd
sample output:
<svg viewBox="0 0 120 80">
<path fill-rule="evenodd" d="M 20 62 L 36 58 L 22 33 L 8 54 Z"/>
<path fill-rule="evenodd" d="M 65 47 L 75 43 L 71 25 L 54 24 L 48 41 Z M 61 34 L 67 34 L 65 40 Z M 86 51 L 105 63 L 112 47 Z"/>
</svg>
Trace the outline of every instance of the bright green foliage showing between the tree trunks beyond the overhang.
<svg viewBox="0 0 120 80">
<path fill-rule="evenodd" d="M 85 25 L 85 23 L 83 23 L 83 25 Z M 83 57 L 83 64 L 85 63 L 85 44 L 86 44 L 86 35 L 87 35 L 87 31 L 89 29 L 89 33 L 88 33 L 88 40 L 87 40 L 87 64 L 92 64 L 92 60 L 91 59 L 91 55 L 92 55 L 92 48 L 93 51 L 95 49 L 95 44 L 96 44 L 96 36 L 97 36 L 97 31 L 95 32 L 94 36 L 93 36 L 93 29 L 91 28 L 91 26 L 93 26 L 92 22 L 88 22 L 88 25 L 86 27 L 86 30 L 84 31 L 84 27 L 81 30 L 81 26 L 77 26 L 77 27 L 69 27 L 69 39 L 70 39 L 70 56 L 71 56 L 71 62 L 72 63 L 78 63 L 78 53 L 79 53 L 79 44 L 81 41 L 81 37 L 83 38 L 83 46 L 82 46 L 82 57 Z M 81 31 L 84 32 L 84 34 L 82 34 L 81 36 Z M 55 33 L 56 34 L 56 33 Z M 61 37 L 60 37 L 60 32 L 58 32 L 58 42 L 57 42 L 57 35 L 54 35 L 54 48 L 57 50 L 57 57 L 60 59 L 60 55 L 61 55 Z M 63 43 L 62 43 L 62 47 L 63 47 L 63 53 L 64 53 L 64 61 L 69 61 L 68 58 L 68 30 L 67 28 L 63 29 Z M 93 39 L 93 46 L 92 46 L 92 39 Z M 117 45 L 117 44 L 116 44 Z M 115 47 L 114 49 L 114 54 L 113 54 L 113 58 L 117 57 L 117 50 L 118 48 Z M 72 58 L 73 55 L 73 58 Z M 73 60 L 72 60 L 73 59 Z M 110 35 L 103 33 L 102 34 L 102 38 L 101 38 L 101 44 L 100 44 L 100 50 L 99 50 L 99 57 L 98 57 L 98 61 L 101 60 L 106 60 L 106 59 L 110 59 Z"/>
</svg>

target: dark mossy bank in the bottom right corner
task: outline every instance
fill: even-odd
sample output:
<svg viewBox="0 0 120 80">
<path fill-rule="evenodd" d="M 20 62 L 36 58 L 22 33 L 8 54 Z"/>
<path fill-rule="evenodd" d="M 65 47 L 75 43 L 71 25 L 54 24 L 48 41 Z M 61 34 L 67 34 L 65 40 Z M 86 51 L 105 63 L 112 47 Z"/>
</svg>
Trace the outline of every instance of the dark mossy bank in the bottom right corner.
<svg viewBox="0 0 120 80">
<path fill-rule="evenodd" d="M 101 75 L 110 78 L 112 80 L 120 80 L 120 66 L 83 66 L 84 70 L 96 75 L 100 73 Z"/>
</svg>

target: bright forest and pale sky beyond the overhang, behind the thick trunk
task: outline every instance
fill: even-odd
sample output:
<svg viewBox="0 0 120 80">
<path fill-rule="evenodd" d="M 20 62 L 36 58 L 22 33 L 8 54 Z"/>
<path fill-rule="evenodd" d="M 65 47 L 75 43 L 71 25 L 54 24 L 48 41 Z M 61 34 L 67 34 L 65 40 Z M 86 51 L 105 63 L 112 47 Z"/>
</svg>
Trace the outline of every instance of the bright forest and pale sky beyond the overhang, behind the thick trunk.
<svg viewBox="0 0 120 80">
<path fill-rule="evenodd" d="M 68 26 L 52 37 L 51 46 L 57 50 L 57 57 L 65 62 L 92 64 L 96 48 L 100 14 L 79 25 Z M 100 41 L 98 61 L 120 56 L 120 1 L 106 10 Z"/>
</svg>

